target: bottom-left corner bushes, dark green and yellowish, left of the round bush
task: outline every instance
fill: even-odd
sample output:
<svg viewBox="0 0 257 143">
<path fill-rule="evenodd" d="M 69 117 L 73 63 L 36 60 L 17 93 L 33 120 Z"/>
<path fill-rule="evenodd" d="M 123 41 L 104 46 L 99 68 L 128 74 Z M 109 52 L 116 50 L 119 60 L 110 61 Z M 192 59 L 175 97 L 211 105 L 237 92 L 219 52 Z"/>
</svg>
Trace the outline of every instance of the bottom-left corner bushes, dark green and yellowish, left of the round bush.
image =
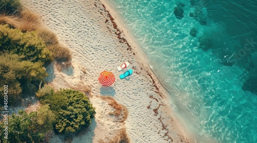
<svg viewBox="0 0 257 143">
<path fill-rule="evenodd" d="M 37 112 L 12 114 L 8 123 L 8 140 L 1 137 L 2 142 L 43 142 L 45 133 L 52 130 L 56 115 L 48 105 L 42 106 Z M 4 122 L 1 124 L 1 136 L 4 134 Z"/>
</svg>

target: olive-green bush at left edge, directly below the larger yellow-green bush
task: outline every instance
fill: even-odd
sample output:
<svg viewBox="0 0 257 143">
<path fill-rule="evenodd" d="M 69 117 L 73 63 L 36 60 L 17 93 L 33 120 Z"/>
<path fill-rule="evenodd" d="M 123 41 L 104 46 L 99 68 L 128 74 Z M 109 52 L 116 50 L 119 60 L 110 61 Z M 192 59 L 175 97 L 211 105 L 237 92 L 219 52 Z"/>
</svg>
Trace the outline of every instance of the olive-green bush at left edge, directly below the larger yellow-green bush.
<svg viewBox="0 0 257 143">
<path fill-rule="evenodd" d="M 4 85 L 8 85 L 8 103 L 15 103 L 27 84 L 39 85 L 48 76 L 42 62 L 23 61 L 24 56 L 0 53 L 0 102 L 3 104 Z"/>
</svg>

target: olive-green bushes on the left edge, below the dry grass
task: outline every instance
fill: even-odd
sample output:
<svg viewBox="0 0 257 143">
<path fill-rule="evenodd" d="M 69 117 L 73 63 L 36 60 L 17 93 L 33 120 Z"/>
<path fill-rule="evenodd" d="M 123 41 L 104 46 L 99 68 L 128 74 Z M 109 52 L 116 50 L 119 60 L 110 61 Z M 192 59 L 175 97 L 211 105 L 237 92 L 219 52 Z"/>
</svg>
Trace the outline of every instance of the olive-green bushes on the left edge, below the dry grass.
<svg viewBox="0 0 257 143">
<path fill-rule="evenodd" d="M 0 86 L 12 85 L 9 88 L 9 103 L 19 101 L 22 92 L 31 91 L 48 76 L 44 65 L 53 60 L 43 40 L 35 32 L 23 33 L 0 25 Z M 28 87 L 28 84 L 32 86 Z M 0 89 L 1 91 L 3 89 Z M 36 90 L 33 90 L 36 92 Z M 3 95 L 0 96 L 4 103 Z"/>
</svg>

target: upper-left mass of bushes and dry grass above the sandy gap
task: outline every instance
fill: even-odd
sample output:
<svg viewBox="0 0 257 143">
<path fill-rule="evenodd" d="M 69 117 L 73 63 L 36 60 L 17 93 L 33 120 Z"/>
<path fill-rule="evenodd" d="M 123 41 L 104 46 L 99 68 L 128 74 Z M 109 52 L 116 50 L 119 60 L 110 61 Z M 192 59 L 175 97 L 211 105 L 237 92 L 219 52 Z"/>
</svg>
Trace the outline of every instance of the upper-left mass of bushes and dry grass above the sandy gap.
<svg viewBox="0 0 257 143">
<path fill-rule="evenodd" d="M 0 1 L 0 56 L 0 86 L 12 85 L 8 93 L 12 104 L 21 94 L 38 90 L 39 83 L 48 76 L 45 66 L 53 59 L 60 64 L 71 60 L 69 49 L 42 26 L 40 16 L 24 10 L 20 0 Z"/>
</svg>

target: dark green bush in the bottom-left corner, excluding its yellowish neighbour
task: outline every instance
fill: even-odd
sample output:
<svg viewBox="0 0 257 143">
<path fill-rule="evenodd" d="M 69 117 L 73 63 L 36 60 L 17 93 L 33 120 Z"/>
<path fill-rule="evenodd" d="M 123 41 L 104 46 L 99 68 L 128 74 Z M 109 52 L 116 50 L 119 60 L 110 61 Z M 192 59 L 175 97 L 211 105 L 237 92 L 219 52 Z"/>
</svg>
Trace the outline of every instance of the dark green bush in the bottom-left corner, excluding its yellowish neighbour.
<svg viewBox="0 0 257 143">
<path fill-rule="evenodd" d="M 36 122 L 36 112 L 27 114 L 20 110 L 19 115 L 12 114 L 8 120 L 8 139 L 4 138 L 4 122 L 1 124 L 1 142 L 42 142 L 44 133 L 32 130 L 31 127 Z"/>
</svg>

